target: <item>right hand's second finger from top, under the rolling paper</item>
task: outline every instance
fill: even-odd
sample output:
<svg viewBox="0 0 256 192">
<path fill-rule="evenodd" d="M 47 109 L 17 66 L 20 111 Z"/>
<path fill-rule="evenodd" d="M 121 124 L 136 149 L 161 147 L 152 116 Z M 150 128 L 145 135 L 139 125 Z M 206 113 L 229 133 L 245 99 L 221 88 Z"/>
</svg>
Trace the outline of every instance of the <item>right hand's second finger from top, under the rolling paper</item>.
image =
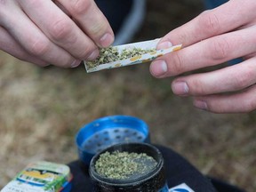
<svg viewBox="0 0 256 192">
<path fill-rule="evenodd" d="M 156 77 L 177 76 L 236 59 L 256 51 L 256 27 L 244 28 L 192 44 L 152 62 L 150 72 Z"/>
</svg>

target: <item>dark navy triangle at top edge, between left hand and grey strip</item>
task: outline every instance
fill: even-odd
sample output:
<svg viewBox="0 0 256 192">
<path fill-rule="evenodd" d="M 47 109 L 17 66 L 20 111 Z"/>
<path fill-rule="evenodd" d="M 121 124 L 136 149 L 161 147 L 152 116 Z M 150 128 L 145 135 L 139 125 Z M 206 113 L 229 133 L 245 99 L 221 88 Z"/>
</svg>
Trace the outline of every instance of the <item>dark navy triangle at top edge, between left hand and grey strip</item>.
<svg viewBox="0 0 256 192">
<path fill-rule="evenodd" d="M 116 34 L 132 9 L 132 0 L 95 0 L 95 2 Z"/>
</svg>

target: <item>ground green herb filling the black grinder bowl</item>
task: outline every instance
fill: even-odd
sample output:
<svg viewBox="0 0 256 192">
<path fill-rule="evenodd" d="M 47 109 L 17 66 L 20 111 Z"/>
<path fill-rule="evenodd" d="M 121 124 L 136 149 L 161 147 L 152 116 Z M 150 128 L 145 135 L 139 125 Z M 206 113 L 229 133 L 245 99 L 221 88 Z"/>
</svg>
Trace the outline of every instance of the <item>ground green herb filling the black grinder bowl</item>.
<svg viewBox="0 0 256 192">
<path fill-rule="evenodd" d="M 156 160 L 145 153 L 107 151 L 96 161 L 95 170 L 108 179 L 136 179 L 150 172 L 156 164 Z"/>
</svg>

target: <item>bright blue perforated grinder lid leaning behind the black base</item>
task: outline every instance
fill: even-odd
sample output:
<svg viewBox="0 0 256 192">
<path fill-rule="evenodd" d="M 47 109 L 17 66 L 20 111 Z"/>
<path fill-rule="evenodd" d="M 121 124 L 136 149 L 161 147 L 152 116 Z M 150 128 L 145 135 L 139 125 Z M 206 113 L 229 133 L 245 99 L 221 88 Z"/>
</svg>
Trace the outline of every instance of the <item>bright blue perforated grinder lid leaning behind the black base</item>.
<svg viewBox="0 0 256 192">
<path fill-rule="evenodd" d="M 96 153 L 125 142 L 150 142 L 148 124 L 133 116 L 105 116 L 85 124 L 76 134 L 79 159 L 89 165 Z"/>
</svg>

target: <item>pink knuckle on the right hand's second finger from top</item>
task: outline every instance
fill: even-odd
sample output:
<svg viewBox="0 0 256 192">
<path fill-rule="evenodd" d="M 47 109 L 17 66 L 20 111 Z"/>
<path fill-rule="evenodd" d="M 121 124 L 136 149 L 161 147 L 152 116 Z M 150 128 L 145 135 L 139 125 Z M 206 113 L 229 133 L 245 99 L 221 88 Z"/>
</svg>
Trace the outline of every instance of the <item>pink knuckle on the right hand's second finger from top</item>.
<svg viewBox="0 0 256 192">
<path fill-rule="evenodd" d="M 224 37 L 216 37 L 210 44 L 212 60 L 224 60 L 228 57 L 229 43 Z"/>
</svg>

